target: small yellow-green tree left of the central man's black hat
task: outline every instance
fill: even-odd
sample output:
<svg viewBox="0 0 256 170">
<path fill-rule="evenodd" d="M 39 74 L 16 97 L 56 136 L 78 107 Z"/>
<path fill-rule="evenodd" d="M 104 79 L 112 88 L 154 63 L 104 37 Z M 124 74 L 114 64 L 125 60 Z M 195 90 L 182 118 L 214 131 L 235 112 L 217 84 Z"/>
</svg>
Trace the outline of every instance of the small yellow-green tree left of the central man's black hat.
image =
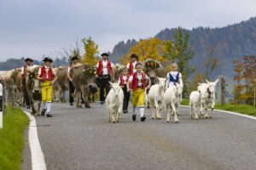
<svg viewBox="0 0 256 170">
<path fill-rule="evenodd" d="M 98 45 L 94 42 L 91 37 L 88 39 L 83 38 L 82 42 L 84 43 L 84 54 L 83 54 L 83 63 L 87 63 L 90 66 L 95 66 L 98 62 L 99 54 Z"/>
</svg>

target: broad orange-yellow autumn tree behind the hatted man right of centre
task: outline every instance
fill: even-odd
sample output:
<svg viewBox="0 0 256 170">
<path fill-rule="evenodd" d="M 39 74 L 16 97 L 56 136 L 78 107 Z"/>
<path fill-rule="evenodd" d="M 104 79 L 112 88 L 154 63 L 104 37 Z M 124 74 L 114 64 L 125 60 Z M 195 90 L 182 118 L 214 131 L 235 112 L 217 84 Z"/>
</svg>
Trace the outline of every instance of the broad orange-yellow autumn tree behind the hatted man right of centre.
<svg viewBox="0 0 256 170">
<path fill-rule="evenodd" d="M 119 62 L 126 65 L 129 62 L 131 54 L 137 54 L 140 61 L 145 59 L 155 59 L 161 63 L 166 62 L 166 58 L 163 55 L 164 41 L 158 37 L 145 38 L 137 42 L 136 46 L 130 49 L 129 54 L 119 58 Z"/>
</svg>

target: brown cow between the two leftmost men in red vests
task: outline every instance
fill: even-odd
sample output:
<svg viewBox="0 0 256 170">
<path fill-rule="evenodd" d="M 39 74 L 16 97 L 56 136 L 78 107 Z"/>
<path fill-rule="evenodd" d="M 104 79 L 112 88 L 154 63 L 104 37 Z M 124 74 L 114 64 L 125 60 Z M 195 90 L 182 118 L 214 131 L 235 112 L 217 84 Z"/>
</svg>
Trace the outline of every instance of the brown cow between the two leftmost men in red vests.
<svg viewBox="0 0 256 170">
<path fill-rule="evenodd" d="M 33 71 L 38 72 L 40 67 L 40 65 L 33 65 L 32 67 L 27 68 L 26 74 L 26 91 L 31 105 L 31 114 L 36 114 L 36 116 L 40 116 L 40 107 L 42 102 L 41 81 L 38 80 L 37 77 L 31 77 L 30 73 Z M 34 107 L 34 103 L 38 103 L 37 110 Z"/>
</svg>

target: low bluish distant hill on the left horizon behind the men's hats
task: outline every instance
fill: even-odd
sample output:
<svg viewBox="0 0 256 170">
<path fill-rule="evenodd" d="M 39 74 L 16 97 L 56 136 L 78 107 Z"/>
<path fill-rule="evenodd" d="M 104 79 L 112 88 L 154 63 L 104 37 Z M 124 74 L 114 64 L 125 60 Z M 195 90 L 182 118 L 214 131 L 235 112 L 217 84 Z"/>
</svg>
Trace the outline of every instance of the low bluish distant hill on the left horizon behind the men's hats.
<svg viewBox="0 0 256 170">
<path fill-rule="evenodd" d="M 21 66 L 25 65 L 25 58 L 22 57 L 20 59 L 7 59 L 7 61 L 0 62 L 0 71 L 9 71 L 15 68 L 20 68 Z M 34 60 L 33 65 L 43 65 L 42 61 Z M 52 63 L 52 66 L 56 67 L 58 65 L 68 65 L 66 58 L 55 59 Z"/>
</svg>

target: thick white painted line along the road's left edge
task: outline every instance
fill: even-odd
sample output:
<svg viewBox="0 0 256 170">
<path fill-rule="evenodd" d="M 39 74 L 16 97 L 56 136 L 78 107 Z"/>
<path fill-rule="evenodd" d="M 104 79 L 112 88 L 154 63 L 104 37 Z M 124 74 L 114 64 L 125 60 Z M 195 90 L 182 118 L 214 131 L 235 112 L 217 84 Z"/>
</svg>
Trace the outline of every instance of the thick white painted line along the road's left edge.
<svg viewBox="0 0 256 170">
<path fill-rule="evenodd" d="M 30 119 L 28 140 L 29 140 L 29 146 L 31 150 L 32 170 L 46 170 L 44 153 L 41 149 L 41 146 L 38 140 L 38 129 L 37 129 L 37 123 L 36 123 L 35 117 L 26 111 L 24 112 Z"/>
</svg>

